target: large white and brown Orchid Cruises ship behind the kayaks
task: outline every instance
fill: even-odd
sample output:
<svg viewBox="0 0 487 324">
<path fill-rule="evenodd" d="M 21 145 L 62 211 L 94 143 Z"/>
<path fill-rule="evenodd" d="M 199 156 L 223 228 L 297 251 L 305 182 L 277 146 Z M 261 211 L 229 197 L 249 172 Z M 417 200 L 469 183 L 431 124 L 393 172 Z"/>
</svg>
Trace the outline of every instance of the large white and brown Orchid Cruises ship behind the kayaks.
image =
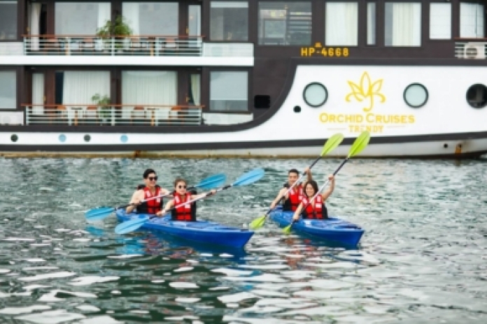
<svg viewBox="0 0 487 324">
<path fill-rule="evenodd" d="M 486 2 L 0 0 L 0 154 L 481 156 Z"/>
</svg>

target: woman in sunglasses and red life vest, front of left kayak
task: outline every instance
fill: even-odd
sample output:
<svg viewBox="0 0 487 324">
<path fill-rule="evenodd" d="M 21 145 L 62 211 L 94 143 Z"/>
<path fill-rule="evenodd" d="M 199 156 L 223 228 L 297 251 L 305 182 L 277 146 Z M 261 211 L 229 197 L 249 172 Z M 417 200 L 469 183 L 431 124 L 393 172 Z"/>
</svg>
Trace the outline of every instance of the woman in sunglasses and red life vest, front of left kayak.
<svg viewBox="0 0 487 324">
<path fill-rule="evenodd" d="M 176 179 L 174 181 L 174 199 L 169 200 L 166 207 L 162 211 L 157 213 L 157 216 L 163 216 L 169 209 L 171 210 L 171 220 L 173 221 L 196 221 L 196 205 L 192 200 L 214 195 L 216 190 L 213 189 L 209 193 L 200 193 L 199 195 L 193 195 L 191 192 L 186 191 L 188 184 L 185 179 Z M 184 204 L 188 202 L 187 204 Z M 184 205 L 183 205 L 184 204 Z"/>
</svg>

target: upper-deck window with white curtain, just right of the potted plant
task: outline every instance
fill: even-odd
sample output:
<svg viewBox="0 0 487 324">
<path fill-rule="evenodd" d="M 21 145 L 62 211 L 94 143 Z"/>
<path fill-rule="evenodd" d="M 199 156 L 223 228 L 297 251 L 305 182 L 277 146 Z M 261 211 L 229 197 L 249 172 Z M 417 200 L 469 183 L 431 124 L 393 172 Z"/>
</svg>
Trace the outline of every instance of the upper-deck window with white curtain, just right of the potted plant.
<svg viewBox="0 0 487 324">
<path fill-rule="evenodd" d="M 132 35 L 178 35 L 177 2 L 123 2 L 122 13 Z"/>
</svg>

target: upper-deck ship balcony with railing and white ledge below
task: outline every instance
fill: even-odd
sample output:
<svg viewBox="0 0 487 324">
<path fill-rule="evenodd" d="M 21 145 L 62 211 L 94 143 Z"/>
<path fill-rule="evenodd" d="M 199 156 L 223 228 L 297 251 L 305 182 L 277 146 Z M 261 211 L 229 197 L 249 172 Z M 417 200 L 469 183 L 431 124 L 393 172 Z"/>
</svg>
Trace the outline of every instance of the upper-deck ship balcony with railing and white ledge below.
<svg viewBox="0 0 487 324">
<path fill-rule="evenodd" d="M 253 66 L 253 52 L 253 43 L 208 43 L 204 36 L 27 35 L 0 43 L 0 64 Z"/>
</svg>

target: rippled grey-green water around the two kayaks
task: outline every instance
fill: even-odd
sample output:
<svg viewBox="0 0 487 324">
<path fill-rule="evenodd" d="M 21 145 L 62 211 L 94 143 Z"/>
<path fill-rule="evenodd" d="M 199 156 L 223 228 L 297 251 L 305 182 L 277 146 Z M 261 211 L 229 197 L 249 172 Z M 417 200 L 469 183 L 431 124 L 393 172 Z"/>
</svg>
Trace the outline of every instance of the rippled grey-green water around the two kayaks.
<svg viewBox="0 0 487 324">
<path fill-rule="evenodd" d="M 328 208 L 366 229 L 356 250 L 270 221 L 240 253 L 115 235 L 114 216 L 85 221 L 127 203 L 147 167 L 163 186 L 265 168 L 199 204 L 202 218 L 242 226 L 267 211 L 286 170 L 311 161 L 0 159 L 0 322 L 487 322 L 486 159 L 352 159 Z M 313 175 L 323 183 L 339 163 Z"/>
</svg>

